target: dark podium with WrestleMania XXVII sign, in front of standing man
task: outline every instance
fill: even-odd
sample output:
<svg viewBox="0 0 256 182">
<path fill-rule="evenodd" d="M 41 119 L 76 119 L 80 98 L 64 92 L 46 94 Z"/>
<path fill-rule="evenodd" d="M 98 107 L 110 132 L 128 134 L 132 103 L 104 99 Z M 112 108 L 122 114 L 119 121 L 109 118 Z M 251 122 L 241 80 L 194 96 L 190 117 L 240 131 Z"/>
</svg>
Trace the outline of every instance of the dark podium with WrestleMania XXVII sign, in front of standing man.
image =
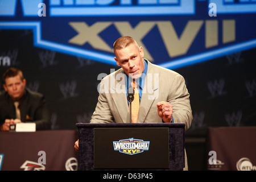
<svg viewBox="0 0 256 182">
<path fill-rule="evenodd" d="M 182 171 L 185 123 L 76 123 L 79 170 Z"/>
</svg>

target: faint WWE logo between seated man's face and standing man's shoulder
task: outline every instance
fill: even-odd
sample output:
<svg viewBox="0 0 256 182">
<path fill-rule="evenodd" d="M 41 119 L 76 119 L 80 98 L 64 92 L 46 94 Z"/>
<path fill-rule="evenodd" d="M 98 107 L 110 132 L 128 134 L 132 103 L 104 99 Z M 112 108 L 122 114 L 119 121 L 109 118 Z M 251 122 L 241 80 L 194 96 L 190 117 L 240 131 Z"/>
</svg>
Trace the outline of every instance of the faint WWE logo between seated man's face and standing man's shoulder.
<svg viewBox="0 0 256 182">
<path fill-rule="evenodd" d="M 65 84 L 59 84 L 60 91 L 63 94 L 64 98 L 78 96 L 78 94 L 75 93 L 76 85 L 76 81 L 66 82 Z"/>
</svg>

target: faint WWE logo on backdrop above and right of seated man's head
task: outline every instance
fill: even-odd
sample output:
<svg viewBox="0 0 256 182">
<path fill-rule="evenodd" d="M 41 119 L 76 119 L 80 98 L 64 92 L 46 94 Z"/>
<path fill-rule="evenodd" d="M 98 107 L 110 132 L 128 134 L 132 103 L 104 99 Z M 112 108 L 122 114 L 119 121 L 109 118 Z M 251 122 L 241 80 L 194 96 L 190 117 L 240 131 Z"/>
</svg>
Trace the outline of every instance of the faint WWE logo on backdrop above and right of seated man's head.
<svg viewBox="0 0 256 182">
<path fill-rule="evenodd" d="M 57 61 L 54 60 L 55 53 L 55 51 L 40 51 L 38 53 L 39 59 L 43 64 L 43 68 L 57 64 Z"/>
</svg>

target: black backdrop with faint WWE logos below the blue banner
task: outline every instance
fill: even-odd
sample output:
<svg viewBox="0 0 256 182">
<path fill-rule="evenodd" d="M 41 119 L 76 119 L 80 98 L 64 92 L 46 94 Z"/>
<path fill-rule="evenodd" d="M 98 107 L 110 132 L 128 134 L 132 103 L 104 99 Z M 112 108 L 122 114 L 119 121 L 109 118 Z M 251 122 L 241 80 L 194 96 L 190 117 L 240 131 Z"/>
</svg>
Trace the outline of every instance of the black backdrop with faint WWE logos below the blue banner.
<svg viewBox="0 0 256 182">
<path fill-rule="evenodd" d="M 24 72 L 27 86 L 43 93 L 52 129 L 75 129 L 89 122 L 97 104 L 101 75 L 118 67 L 33 46 L 31 30 L 1 30 L 0 73 L 10 66 Z M 193 121 L 187 134 L 209 126 L 255 126 L 256 49 L 175 69 L 191 94 Z M 1 89 L 2 80 L 1 80 Z"/>
</svg>

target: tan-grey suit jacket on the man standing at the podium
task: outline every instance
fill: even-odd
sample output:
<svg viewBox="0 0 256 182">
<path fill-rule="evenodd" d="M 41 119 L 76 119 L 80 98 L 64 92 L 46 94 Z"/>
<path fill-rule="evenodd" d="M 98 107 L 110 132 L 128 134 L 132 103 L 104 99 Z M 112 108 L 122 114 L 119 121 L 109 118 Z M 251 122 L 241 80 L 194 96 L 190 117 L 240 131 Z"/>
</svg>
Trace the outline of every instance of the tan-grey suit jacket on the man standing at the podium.
<svg viewBox="0 0 256 182">
<path fill-rule="evenodd" d="M 156 103 L 167 101 L 173 107 L 174 122 L 185 123 L 187 130 L 191 125 L 192 111 L 184 78 L 170 69 L 159 67 L 150 61 L 147 63 L 138 123 L 162 123 Z M 125 85 L 122 68 L 102 79 L 98 103 L 90 123 L 130 122 Z"/>
</svg>

